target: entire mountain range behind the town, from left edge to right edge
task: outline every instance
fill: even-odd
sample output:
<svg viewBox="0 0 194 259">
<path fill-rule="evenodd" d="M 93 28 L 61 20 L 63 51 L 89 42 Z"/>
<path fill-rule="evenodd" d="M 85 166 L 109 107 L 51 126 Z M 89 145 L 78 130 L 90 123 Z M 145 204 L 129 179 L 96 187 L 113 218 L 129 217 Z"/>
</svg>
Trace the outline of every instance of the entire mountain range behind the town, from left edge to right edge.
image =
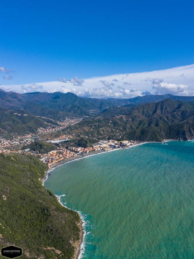
<svg viewBox="0 0 194 259">
<path fill-rule="evenodd" d="M 0 89 L 0 134 L 33 133 L 45 127 L 45 122 L 55 124 L 49 118 L 79 117 L 81 122 L 67 128 L 76 136 L 161 140 L 180 135 L 189 139 L 193 136 L 193 102 L 194 96 L 171 94 L 97 99 L 70 92 L 18 94 Z"/>
</svg>

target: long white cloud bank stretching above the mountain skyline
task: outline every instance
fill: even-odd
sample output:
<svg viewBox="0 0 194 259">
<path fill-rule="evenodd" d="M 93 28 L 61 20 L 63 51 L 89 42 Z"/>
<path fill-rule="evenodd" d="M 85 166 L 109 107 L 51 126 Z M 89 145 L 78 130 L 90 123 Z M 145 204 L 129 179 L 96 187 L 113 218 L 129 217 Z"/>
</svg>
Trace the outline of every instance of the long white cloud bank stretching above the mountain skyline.
<svg viewBox="0 0 194 259">
<path fill-rule="evenodd" d="M 4 76 L 12 73 L 9 68 L 0 67 Z M 9 78 L 6 80 L 9 80 Z M 194 64 L 165 70 L 109 75 L 69 80 L 61 77 L 54 82 L 30 83 L 25 85 L 2 85 L 3 89 L 25 92 L 72 92 L 78 96 L 133 98 L 148 94 L 194 95 Z"/>
</svg>

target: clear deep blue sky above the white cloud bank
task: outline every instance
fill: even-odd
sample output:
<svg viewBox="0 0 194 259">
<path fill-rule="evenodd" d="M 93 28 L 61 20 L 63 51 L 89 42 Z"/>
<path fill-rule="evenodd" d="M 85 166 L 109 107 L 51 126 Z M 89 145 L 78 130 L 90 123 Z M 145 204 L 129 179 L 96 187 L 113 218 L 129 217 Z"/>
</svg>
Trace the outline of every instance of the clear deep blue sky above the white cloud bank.
<svg viewBox="0 0 194 259">
<path fill-rule="evenodd" d="M 0 67 L 14 72 L 0 83 L 193 64 L 193 7 L 192 1 L 1 1 Z"/>
</svg>

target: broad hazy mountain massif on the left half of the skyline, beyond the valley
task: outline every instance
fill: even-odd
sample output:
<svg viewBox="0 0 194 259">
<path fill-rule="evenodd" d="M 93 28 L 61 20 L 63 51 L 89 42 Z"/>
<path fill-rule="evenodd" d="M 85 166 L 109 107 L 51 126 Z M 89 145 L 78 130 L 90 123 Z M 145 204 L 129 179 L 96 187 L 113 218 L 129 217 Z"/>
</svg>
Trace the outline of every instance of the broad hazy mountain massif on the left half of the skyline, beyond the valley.
<svg viewBox="0 0 194 259">
<path fill-rule="evenodd" d="M 0 106 L 11 110 L 24 109 L 34 115 L 51 118 L 80 117 L 98 114 L 107 107 L 115 106 L 108 100 L 81 98 L 75 94 L 5 92 L 0 89 Z M 58 113 L 56 111 L 59 111 Z"/>
</svg>

